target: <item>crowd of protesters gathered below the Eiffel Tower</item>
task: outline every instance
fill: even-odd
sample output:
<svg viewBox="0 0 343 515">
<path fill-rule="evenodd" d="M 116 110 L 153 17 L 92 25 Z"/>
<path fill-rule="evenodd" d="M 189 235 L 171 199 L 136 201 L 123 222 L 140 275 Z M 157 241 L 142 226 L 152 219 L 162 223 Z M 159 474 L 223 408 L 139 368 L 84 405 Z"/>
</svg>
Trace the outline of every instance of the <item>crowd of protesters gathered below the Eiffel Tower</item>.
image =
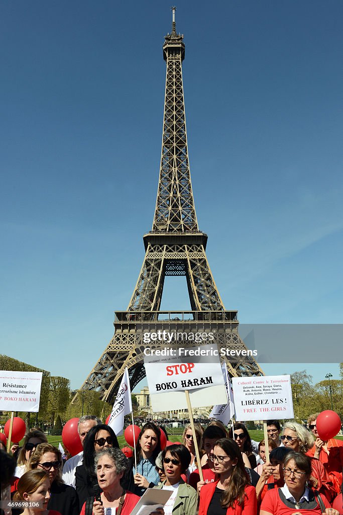
<svg viewBox="0 0 343 515">
<path fill-rule="evenodd" d="M 16 461 L 1 449 L 2 501 L 11 501 L 2 513 L 131 515 L 147 490 L 159 489 L 169 499 L 155 515 L 343 515 L 343 441 L 320 439 L 318 415 L 309 417 L 310 431 L 269 420 L 260 442 L 240 422 L 230 429 L 196 423 L 195 432 L 186 424 L 182 442 L 164 449 L 163 429 L 147 422 L 132 458 L 110 426 L 86 415 L 78 422 L 83 451 L 64 465 L 34 428 L 15 449 Z"/>
</svg>

